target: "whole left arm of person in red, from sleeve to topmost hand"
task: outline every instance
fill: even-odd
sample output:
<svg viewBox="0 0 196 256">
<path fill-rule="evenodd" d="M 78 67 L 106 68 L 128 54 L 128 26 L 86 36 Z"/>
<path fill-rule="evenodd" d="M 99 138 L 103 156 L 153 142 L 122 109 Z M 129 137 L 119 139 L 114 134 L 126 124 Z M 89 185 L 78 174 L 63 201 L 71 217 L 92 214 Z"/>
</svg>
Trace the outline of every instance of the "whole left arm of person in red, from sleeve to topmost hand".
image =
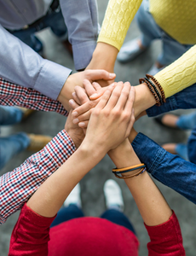
<svg viewBox="0 0 196 256">
<path fill-rule="evenodd" d="M 40 255 L 41 252 L 42 255 L 47 255 L 51 220 L 81 178 L 107 154 L 108 150 L 116 148 L 128 136 L 133 125 L 133 101 L 134 90 L 130 91 L 129 84 L 123 86 L 123 83 L 120 83 L 113 91 L 106 91 L 91 115 L 84 142 L 32 195 L 27 202 L 29 215 L 26 213 L 26 206 L 23 207 L 11 237 L 11 255 L 17 255 L 27 249 L 28 255 Z M 29 229 L 30 225 L 34 224 L 36 214 L 37 219 L 43 221 L 35 222 L 35 226 L 32 225 L 32 229 Z M 44 219 L 48 219 L 47 223 Z M 24 229 L 26 236 L 23 235 Z M 37 237 L 41 238 L 38 248 Z"/>
</svg>

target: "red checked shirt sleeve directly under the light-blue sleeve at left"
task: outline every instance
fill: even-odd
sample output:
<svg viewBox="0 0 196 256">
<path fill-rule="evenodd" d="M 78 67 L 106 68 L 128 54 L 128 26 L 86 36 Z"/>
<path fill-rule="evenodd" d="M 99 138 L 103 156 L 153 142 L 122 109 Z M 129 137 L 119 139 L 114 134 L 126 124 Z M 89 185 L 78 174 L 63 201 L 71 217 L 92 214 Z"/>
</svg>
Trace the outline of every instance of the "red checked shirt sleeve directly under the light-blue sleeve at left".
<svg viewBox="0 0 196 256">
<path fill-rule="evenodd" d="M 2 78 L 0 78 L 0 105 L 54 111 L 66 116 L 68 114 L 61 102 L 52 100 L 37 90 L 10 83 Z"/>
</svg>

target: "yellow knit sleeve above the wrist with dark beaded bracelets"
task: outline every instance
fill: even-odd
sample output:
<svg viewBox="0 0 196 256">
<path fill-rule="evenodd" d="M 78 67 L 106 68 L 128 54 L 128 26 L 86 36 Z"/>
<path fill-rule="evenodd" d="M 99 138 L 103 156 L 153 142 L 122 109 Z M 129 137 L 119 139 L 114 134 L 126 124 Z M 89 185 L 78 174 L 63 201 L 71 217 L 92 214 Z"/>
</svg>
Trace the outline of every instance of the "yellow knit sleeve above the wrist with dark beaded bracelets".
<svg viewBox="0 0 196 256">
<path fill-rule="evenodd" d="M 163 87 L 166 98 L 196 83 L 196 45 L 154 77 Z"/>
</svg>

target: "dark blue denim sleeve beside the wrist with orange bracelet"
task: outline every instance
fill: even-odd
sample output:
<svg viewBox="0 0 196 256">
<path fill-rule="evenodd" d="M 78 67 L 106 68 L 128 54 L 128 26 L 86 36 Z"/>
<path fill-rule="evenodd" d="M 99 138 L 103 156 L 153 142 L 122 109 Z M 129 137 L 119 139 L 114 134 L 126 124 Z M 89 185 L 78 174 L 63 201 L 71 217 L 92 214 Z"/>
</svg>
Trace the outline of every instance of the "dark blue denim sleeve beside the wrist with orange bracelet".
<svg viewBox="0 0 196 256">
<path fill-rule="evenodd" d="M 147 166 L 147 172 L 196 204 L 195 164 L 170 154 L 142 133 L 138 133 L 131 144 L 135 154 Z"/>
</svg>

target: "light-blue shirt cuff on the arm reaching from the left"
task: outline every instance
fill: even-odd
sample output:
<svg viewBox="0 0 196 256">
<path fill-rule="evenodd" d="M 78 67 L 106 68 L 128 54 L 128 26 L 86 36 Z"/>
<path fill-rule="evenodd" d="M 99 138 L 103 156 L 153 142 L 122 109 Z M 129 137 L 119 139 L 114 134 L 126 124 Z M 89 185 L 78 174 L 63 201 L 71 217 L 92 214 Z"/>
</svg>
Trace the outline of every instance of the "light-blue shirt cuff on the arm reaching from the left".
<svg viewBox="0 0 196 256">
<path fill-rule="evenodd" d="M 56 100 L 70 73 L 72 73 L 71 69 L 53 61 L 44 60 L 33 89 Z"/>
</svg>

